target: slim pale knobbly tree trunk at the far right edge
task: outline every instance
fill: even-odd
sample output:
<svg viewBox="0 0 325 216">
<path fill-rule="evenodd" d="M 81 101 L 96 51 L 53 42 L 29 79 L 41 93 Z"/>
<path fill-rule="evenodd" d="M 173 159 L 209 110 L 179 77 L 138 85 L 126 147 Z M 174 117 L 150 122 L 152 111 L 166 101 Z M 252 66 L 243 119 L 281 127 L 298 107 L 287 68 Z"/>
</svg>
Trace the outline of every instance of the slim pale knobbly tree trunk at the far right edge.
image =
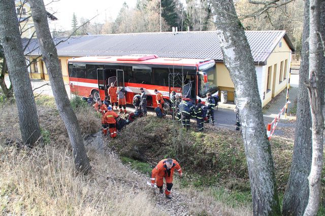
<svg viewBox="0 0 325 216">
<path fill-rule="evenodd" d="M 322 29 L 320 27 L 321 0 L 310 0 L 309 12 L 309 81 L 306 83 L 309 93 L 312 119 L 312 162 L 308 176 L 309 199 L 304 215 L 316 215 L 321 192 L 321 170 L 323 159 L 323 102 L 325 80 L 321 70 L 323 60 L 321 47 Z"/>
</svg>

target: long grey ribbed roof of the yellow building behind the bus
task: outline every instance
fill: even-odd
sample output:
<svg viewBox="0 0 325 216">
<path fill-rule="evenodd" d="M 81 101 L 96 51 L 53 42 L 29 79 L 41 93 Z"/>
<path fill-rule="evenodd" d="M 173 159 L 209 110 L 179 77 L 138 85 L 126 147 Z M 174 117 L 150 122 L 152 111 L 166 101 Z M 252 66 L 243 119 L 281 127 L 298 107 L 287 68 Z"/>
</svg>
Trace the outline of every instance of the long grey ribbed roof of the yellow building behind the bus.
<svg viewBox="0 0 325 216">
<path fill-rule="evenodd" d="M 285 31 L 246 31 L 245 33 L 256 63 L 265 63 L 283 37 L 291 50 L 294 50 Z M 64 38 L 54 39 L 55 42 L 61 40 Z M 40 55 L 37 46 L 37 41 L 32 41 L 25 54 L 35 49 L 28 55 Z M 68 57 L 156 54 L 159 57 L 211 58 L 223 61 L 216 31 L 84 35 L 60 43 L 57 45 L 57 53 L 59 56 Z"/>
</svg>

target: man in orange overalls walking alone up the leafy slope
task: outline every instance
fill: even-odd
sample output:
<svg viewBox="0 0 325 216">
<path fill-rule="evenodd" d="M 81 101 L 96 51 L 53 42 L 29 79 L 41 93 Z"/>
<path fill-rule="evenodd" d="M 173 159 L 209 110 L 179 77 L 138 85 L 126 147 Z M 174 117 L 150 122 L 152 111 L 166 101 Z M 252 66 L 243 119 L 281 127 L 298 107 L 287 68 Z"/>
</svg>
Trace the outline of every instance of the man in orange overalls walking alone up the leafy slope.
<svg viewBox="0 0 325 216">
<path fill-rule="evenodd" d="M 171 158 L 161 160 L 155 168 L 151 171 L 151 186 L 154 186 L 156 183 L 157 188 L 159 188 L 160 194 L 164 193 L 163 185 L 164 185 L 164 178 L 166 181 L 166 190 L 165 196 L 167 199 L 172 199 L 171 190 L 173 187 L 173 175 L 174 170 L 178 171 L 180 177 L 182 177 L 182 169 L 179 163 L 176 160 Z"/>
</svg>

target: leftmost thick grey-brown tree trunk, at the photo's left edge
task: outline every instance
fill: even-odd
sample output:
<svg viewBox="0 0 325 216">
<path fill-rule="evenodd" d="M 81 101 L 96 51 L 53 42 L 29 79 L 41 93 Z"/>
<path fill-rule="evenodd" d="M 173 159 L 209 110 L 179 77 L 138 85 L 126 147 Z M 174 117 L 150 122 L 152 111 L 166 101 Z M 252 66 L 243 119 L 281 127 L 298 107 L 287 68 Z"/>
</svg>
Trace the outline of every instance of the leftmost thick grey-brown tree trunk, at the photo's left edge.
<svg viewBox="0 0 325 216">
<path fill-rule="evenodd" d="M 28 78 L 14 1 L 1 1 L 0 14 L 0 38 L 10 80 L 14 86 L 21 137 L 27 145 L 34 145 L 41 137 L 41 129 Z"/>
</svg>

